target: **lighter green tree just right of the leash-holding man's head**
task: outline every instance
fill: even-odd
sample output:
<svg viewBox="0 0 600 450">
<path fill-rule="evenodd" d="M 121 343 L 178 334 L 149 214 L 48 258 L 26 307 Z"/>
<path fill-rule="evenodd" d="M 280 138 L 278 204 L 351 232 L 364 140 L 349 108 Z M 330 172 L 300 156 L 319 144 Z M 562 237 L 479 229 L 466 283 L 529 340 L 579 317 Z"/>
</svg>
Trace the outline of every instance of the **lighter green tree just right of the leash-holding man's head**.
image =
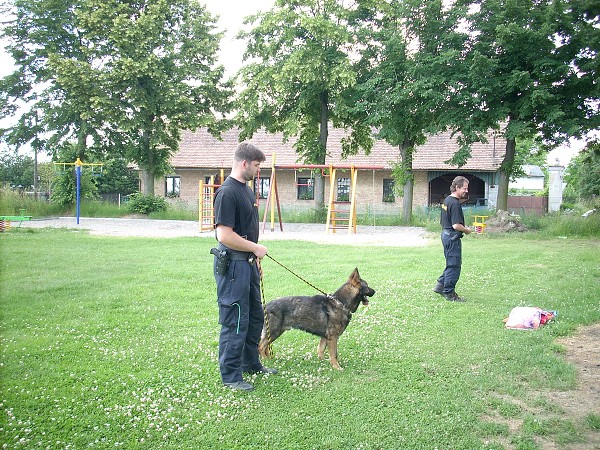
<svg viewBox="0 0 600 450">
<path fill-rule="evenodd" d="M 370 12 L 341 0 L 277 0 L 273 9 L 246 19 L 249 32 L 241 69 L 236 122 L 242 138 L 261 128 L 296 137 L 308 164 L 324 164 L 329 125 L 349 130 L 344 156 L 372 146 L 370 129 L 351 107 L 361 63 L 356 50 Z M 324 203 L 323 179 L 315 180 L 315 206 Z"/>
</svg>

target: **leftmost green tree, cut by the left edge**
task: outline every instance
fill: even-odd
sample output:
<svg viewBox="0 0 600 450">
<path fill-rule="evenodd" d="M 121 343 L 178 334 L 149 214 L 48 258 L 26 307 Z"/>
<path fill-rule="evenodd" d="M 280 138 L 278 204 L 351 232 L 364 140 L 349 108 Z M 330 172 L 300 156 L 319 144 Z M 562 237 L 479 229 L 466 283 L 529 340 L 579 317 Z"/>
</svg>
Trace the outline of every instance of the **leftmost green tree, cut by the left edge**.
<svg viewBox="0 0 600 450">
<path fill-rule="evenodd" d="M 0 80 L 0 115 L 14 116 L 13 124 L 0 130 L 7 144 L 19 148 L 31 142 L 42 151 L 75 140 L 85 158 L 88 136 L 100 139 L 102 120 L 92 102 L 98 96 L 98 71 L 85 70 L 93 55 L 77 20 L 78 8 L 73 0 L 2 4 L 10 17 L 2 38 L 16 66 Z M 55 64 L 61 59 L 71 63 L 71 84 L 57 73 Z"/>
</svg>

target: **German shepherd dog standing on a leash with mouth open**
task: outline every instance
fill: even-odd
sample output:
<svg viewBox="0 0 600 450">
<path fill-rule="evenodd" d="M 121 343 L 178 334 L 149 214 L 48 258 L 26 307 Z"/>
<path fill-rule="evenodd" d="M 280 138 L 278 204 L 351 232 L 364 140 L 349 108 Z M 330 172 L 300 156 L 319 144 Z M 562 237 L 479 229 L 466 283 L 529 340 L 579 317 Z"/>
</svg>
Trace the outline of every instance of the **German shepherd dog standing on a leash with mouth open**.
<svg viewBox="0 0 600 450">
<path fill-rule="evenodd" d="M 270 357 L 270 344 L 284 331 L 295 328 L 320 336 L 317 355 L 323 359 L 327 346 L 331 366 L 342 370 L 337 360 L 338 339 L 358 305 L 361 302 L 368 305 L 368 297 L 374 294 L 375 291 L 360 277 L 358 269 L 354 269 L 348 281 L 331 295 L 294 295 L 267 303 L 267 317 L 258 344 L 260 355 Z"/>
</svg>

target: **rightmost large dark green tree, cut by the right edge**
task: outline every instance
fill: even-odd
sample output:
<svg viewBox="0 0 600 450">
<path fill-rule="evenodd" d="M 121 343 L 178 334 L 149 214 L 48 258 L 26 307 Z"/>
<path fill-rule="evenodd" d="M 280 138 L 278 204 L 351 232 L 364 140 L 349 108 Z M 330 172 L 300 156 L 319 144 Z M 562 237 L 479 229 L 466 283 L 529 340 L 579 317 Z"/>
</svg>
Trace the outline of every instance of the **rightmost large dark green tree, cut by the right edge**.
<svg viewBox="0 0 600 450">
<path fill-rule="evenodd" d="M 446 123 L 467 144 L 502 128 L 497 206 L 506 209 L 518 139 L 540 137 L 552 147 L 598 127 L 600 16 L 592 1 L 467 3 L 470 40 Z M 464 145 L 452 162 L 469 157 Z"/>
</svg>

